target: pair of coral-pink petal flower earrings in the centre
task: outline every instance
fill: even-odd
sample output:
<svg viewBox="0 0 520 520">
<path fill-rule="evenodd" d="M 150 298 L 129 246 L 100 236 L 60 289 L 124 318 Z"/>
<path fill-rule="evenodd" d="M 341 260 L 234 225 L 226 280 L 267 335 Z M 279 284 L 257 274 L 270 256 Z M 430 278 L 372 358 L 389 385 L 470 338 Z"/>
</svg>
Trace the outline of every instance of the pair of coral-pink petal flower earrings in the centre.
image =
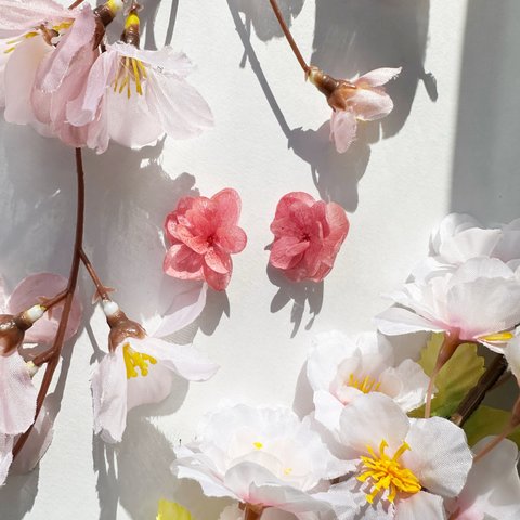
<svg viewBox="0 0 520 520">
<path fill-rule="evenodd" d="M 164 261 L 166 274 L 206 281 L 225 290 L 233 272 L 231 255 L 244 250 L 245 231 L 238 226 L 242 200 L 233 188 L 207 197 L 183 197 L 166 217 L 170 243 Z M 271 231 L 269 263 L 294 282 L 321 282 L 333 269 L 349 232 L 347 214 L 336 203 L 315 200 L 303 192 L 284 195 Z"/>
</svg>

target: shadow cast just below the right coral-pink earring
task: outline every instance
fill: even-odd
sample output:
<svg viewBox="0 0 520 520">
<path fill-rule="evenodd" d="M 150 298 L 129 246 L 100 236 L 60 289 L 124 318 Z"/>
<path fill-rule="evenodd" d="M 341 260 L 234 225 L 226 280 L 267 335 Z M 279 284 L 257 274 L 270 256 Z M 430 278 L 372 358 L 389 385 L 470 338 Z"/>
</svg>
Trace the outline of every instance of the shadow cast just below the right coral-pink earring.
<svg viewBox="0 0 520 520">
<path fill-rule="evenodd" d="M 323 306 L 324 283 L 315 282 L 290 282 L 278 270 L 268 265 L 268 277 L 273 285 L 278 287 L 278 291 L 271 301 L 271 312 L 281 311 L 284 307 L 292 302 L 290 311 L 290 323 L 294 324 L 290 337 L 294 338 L 300 329 L 303 315 L 308 309 L 310 315 L 304 328 L 309 330 L 314 324 L 314 320 L 320 314 Z"/>
</svg>

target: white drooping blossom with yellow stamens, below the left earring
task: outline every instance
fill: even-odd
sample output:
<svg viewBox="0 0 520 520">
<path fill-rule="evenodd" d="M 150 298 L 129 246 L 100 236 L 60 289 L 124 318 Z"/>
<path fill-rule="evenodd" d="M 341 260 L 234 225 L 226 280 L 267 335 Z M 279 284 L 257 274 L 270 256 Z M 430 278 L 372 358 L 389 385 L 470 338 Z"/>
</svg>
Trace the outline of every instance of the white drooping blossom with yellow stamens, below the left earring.
<svg viewBox="0 0 520 520">
<path fill-rule="evenodd" d="M 147 336 L 112 301 L 104 302 L 104 311 L 112 329 L 109 352 L 92 374 L 94 432 L 105 442 L 115 443 L 122 439 L 127 413 L 141 404 L 166 399 L 176 374 L 191 381 L 204 381 L 219 367 L 192 347 Z M 168 328 L 171 334 L 171 324 Z"/>
</svg>

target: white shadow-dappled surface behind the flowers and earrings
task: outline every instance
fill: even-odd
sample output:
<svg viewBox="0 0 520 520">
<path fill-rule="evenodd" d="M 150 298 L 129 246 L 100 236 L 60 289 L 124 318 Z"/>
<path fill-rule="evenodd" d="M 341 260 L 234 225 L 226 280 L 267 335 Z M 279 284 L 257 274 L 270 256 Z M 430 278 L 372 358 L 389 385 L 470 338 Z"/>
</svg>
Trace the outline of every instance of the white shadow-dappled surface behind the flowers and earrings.
<svg viewBox="0 0 520 520">
<path fill-rule="evenodd" d="M 142 3 L 145 47 L 171 41 L 192 57 L 192 82 L 217 126 L 139 153 L 118 145 L 101 157 L 87 153 L 86 249 L 121 307 L 147 317 L 169 287 L 160 271 L 165 214 L 191 190 L 210 196 L 235 187 L 248 246 L 234 257 L 226 294 L 210 294 L 200 320 L 178 338 L 194 336 L 222 368 L 131 413 L 122 444 L 104 447 L 92 435 L 89 374 L 107 327 L 92 313 L 83 275 L 86 325 L 57 373 L 54 442 L 39 468 L 0 490 L 1 520 L 152 520 L 159 497 L 190 506 L 197 520 L 216 519 L 225 500 L 204 499 L 169 472 L 172 444 L 193 435 L 200 415 L 224 399 L 290 406 L 296 395 L 306 411 L 300 372 L 314 333 L 370 328 L 386 307 L 379 295 L 407 276 L 450 210 L 486 223 L 520 214 L 518 1 L 282 1 L 304 56 L 330 74 L 404 67 L 389 89 L 394 113 L 367 125 L 342 156 L 322 127 L 325 100 L 302 81 L 266 0 Z M 0 271 L 11 287 L 35 271 L 66 275 L 74 154 L 28 128 L 2 122 L 0 135 Z M 351 218 L 323 284 L 291 285 L 266 270 L 269 224 L 290 191 L 336 200 Z"/>
</svg>

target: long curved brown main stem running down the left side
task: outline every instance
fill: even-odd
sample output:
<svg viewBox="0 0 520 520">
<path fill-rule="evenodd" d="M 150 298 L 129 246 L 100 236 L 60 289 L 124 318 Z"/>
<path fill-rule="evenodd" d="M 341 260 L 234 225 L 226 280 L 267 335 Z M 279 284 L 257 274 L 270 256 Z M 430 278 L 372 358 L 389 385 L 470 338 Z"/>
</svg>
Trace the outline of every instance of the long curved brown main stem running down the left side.
<svg viewBox="0 0 520 520">
<path fill-rule="evenodd" d="M 74 292 L 76 291 L 76 285 L 78 283 L 79 274 L 79 264 L 80 264 L 80 253 L 83 243 L 83 222 L 84 222 L 84 173 L 83 173 L 83 161 L 81 156 L 81 148 L 76 148 L 76 177 L 78 182 L 77 187 L 77 209 L 76 209 L 76 236 L 74 244 L 74 253 L 73 261 L 70 265 L 70 274 L 68 277 L 68 284 L 65 295 L 65 303 L 63 306 L 62 316 L 60 318 L 60 325 L 57 327 L 56 337 L 54 338 L 54 344 L 49 352 L 48 365 L 46 368 L 46 374 L 43 375 L 43 380 L 41 381 L 40 391 L 38 392 L 38 398 L 36 400 L 36 414 L 35 422 L 40 414 L 41 407 L 43 406 L 43 401 L 46 400 L 49 387 L 52 382 L 52 376 L 57 367 L 60 361 L 60 353 L 62 351 L 63 342 L 65 340 L 65 332 L 67 329 L 68 318 L 70 316 L 70 310 L 73 307 Z M 37 365 L 35 361 L 35 365 Z M 18 439 L 16 445 L 13 450 L 13 457 L 20 453 L 24 444 L 27 442 L 27 439 L 32 430 L 32 427 Z"/>
</svg>

